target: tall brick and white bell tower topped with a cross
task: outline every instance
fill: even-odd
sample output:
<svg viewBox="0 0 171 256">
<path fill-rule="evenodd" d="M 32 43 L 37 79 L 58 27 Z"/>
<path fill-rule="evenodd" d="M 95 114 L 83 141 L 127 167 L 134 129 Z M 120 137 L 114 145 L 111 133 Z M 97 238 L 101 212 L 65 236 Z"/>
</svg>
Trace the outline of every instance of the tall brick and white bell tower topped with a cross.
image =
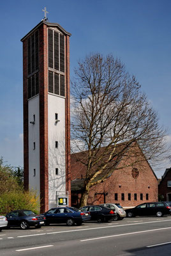
<svg viewBox="0 0 171 256">
<path fill-rule="evenodd" d="M 46 10 L 45 10 L 46 11 Z M 70 205 L 70 36 L 46 18 L 23 43 L 24 187 L 41 212 Z"/>
</svg>

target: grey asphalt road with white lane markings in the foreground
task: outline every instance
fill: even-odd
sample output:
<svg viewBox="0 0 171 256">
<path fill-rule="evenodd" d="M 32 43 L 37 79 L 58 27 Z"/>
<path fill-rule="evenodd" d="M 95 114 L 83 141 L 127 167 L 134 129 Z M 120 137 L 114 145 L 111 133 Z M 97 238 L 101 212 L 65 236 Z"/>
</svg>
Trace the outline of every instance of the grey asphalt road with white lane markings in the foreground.
<svg viewBox="0 0 171 256">
<path fill-rule="evenodd" d="M 171 255 L 171 216 L 125 218 L 82 226 L 50 225 L 0 232 L 0 255 Z"/>
</svg>

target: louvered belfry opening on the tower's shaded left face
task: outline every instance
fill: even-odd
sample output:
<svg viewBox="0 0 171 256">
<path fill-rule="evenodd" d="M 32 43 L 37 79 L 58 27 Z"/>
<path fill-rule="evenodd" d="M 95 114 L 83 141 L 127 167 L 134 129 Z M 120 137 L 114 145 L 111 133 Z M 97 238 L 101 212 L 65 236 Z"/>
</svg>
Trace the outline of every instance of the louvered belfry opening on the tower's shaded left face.
<svg viewBox="0 0 171 256">
<path fill-rule="evenodd" d="M 27 86 L 28 99 L 39 93 L 39 33 L 38 30 L 27 39 Z"/>
</svg>

